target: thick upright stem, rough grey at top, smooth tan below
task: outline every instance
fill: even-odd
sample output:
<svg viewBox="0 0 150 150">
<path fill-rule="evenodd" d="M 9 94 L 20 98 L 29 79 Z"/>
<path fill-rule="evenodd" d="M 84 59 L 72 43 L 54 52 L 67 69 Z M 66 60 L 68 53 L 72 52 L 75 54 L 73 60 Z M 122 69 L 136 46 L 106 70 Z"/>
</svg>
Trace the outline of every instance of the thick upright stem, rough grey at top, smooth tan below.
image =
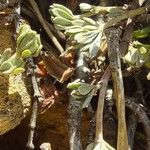
<svg viewBox="0 0 150 150">
<path fill-rule="evenodd" d="M 119 53 L 119 40 L 121 32 L 121 29 L 115 29 L 112 27 L 105 30 L 105 35 L 107 38 L 110 67 L 113 70 L 112 78 L 118 113 L 117 150 L 128 150 L 129 147 L 125 120 L 125 96 Z"/>
</svg>

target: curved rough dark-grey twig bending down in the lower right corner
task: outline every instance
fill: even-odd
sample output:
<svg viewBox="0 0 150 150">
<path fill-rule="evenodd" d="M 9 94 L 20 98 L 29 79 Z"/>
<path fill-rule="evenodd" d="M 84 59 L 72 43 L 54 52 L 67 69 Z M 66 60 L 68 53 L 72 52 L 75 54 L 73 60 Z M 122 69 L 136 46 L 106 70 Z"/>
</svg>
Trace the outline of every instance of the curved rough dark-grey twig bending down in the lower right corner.
<svg viewBox="0 0 150 150">
<path fill-rule="evenodd" d="M 126 98 L 126 106 L 130 108 L 139 118 L 140 122 L 143 123 L 145 133 L 147 135 L 147 149 L 150 149 L 150 120 L 145 112 L 145 108 L 135 102 L 135 98 Z"/>
</svg>

